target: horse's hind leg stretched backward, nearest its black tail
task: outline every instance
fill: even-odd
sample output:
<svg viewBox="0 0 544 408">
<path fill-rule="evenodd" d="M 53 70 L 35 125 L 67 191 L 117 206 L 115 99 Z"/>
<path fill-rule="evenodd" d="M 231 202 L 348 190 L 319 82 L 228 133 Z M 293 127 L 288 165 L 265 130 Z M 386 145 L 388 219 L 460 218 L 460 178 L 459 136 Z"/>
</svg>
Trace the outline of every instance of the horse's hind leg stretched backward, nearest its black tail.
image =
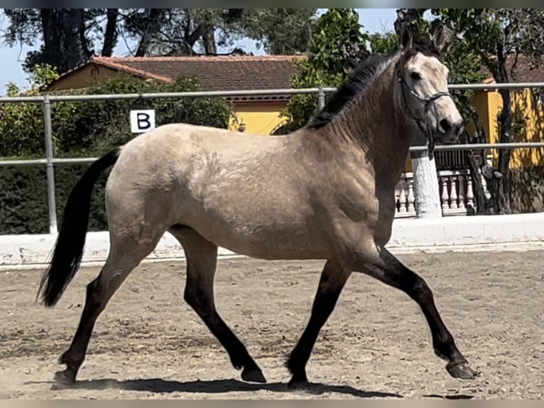
<svg viewBox="0 0 544 408">
<path fill-rule="evenodd" d="M 129 274 L 153 251 L 159 239 L 160 237 L 156 237 L 156 240 L 138 244 L 133 237 L 111 238 L 111 247 L 104 267 L 98 277 L 87 284 L 85 306 L 70 348 L 59 358 L 59 364 L 65 364 L 66 368 L 55 373 L 57 387 L 75 384 L 97 318 Z"/>
</svg>

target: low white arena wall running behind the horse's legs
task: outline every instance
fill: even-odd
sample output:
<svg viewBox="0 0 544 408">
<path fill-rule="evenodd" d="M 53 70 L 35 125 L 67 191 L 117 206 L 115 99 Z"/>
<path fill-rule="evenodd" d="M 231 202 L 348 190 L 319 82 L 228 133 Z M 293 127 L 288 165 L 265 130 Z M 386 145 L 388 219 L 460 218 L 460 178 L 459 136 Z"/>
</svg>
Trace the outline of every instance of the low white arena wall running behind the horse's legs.
<svg viewBox="0 0 544 408">
<path fill-rule="evenodd" d="M 47 234 L 0 235 L 0 270 L 43 267 L 55 240 Z M 396 254 L 544 249 L 544 213 L 398 218 L 387 247 Z M 108 249 L 108 232 L 89 232 L 82 264 L 103 264 Z M 238 256 L 219 248 L 219 258 Z M 178 241 L 167 233 L 144 262 L 184 259 Z"/>
</svg>

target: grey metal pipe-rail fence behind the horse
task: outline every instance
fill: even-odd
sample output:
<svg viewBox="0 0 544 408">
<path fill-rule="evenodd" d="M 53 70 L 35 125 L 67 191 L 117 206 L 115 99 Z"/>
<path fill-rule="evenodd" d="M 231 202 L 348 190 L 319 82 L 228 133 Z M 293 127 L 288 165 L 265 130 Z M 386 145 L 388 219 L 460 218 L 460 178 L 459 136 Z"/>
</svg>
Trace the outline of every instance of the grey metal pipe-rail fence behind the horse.
<svg viewBox="0 0 544 408">
<path fill-rule="evenodd" d="M 544 88 L 544 82 L 521 82 L 504 84 L 452 84 L 450 90 L 522 90 L 528 88 Z M 55 159 L 53 156 L 53 129 L 51 127 L 51 104 L 54 102 L 82 102 L 91 100 L 151 100 L 166 98 L 194 97 L 236 97 L 236 96 L 266 96 L 266 95 L 309 95 L 317 94 L 317 107 L 325 106 L 325 94 L 336 91 L 336 87 L 285 88 L 279 90 L 239 90 L 239 91 L 210 91 L 210 92 L 163 92 L 163 93 L 133 93 L 111 95 L 39 95 L 31 97 L 0 97 L 2 103 L 41 103 L 43 107 L 43 123 L 45 136 L 45 159 L 33 160 L 0 160 L 0 167 L 6 166 L 35 166 L 45 165 L 47 175 L 49 232 L 58 232 L 55 200 L 55 164 L 91 163 L 97 158 Z M 435 146 L 436 151 L 472 150 L 472 149 L 527 149 L 544 147 L 544 142 L 508 143 L 508 144 L 455 144 Z M 410 151 L 425 151 L 426 146 L 412 146 Z"/>
</svg>

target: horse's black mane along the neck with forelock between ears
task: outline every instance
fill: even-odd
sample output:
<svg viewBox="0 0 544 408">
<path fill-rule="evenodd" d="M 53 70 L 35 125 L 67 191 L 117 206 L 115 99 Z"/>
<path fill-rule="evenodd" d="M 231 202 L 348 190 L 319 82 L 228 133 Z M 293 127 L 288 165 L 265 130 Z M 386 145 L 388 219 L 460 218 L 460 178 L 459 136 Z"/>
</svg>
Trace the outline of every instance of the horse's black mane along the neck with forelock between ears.
<svg viewBox="0 0 544 408">
<path fill-rule="evenodd" d="M 325 104 L 321 111 L 312 117 L 306 127 L 308 129 L 320 129 L 332 122 L 334 117 L 342 112 L 342 109 L 347 106 L 360 92 L 366 90 L 372 81 L 378 77 L 388 63 L 393 59 L 401 49 L 398 48 L 387 54 L 374 54 L 369 58 L 361 60 L 352 72 L 342 82 L 336 92 L 330 97 L 330 100 Z M 440 50 L 438 50 L 433 41 L 428 36 L 416 36 L 413 38 L 413 45 L 408 51 L 406 58 L 410 58 L 416 53 L 441 58 Z"/>
</svg>

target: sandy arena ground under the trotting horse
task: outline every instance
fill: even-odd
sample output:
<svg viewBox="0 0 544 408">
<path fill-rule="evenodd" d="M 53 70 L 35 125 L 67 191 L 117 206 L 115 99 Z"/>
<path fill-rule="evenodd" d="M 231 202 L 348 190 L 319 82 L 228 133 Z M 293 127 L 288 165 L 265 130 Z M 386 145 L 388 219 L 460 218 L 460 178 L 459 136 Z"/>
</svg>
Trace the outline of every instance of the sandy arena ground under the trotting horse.
<svg viewBox="0 0 544 408">
<path fill-rule="evenodd" d="M 433 354 L 418 306 L 361 274 L 323 328 L 308 390 L 290 391 L 285 355 L 308 320 L 323 262 L 224 259 L 217 306 L 268 384 L 241 382 L 183 301 L 185 265 L 143 264 L 100 316 L 75 389 L 51 390 L 82 311 L 84 268 L 58 307 L 34 303 L 39 271 L 0 273 L 0 398 L 542 398 L 544 252 L 402 256 L 435 293 L 482 375 L 455 380 Z M 63 366 L 62 366 L 63 367 Z"/>
</svg>

